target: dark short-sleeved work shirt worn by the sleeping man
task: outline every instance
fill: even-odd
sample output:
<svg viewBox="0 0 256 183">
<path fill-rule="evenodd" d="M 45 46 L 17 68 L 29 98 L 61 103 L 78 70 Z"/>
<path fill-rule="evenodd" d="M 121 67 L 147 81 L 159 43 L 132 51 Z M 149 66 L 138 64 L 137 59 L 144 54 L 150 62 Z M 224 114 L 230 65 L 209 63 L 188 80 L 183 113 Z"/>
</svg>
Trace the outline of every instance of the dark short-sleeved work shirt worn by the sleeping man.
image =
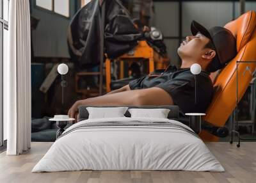
<svg viewBox="0 0 256 183">
<path fill-rule="evenodd" d="M 195 76 L 190 68 L 169 66 L 159 74 L 149 74 L 129 83 L 131 90 L 158 87 L 170 94 L 175 105 L 183 113 L 205 113 L 211 103 L 213 86 L 210 73 L 202 72 L 196 75 L 196 102 Z M 157 100 L 157 99 L 156 99 Z"/>
</svg>

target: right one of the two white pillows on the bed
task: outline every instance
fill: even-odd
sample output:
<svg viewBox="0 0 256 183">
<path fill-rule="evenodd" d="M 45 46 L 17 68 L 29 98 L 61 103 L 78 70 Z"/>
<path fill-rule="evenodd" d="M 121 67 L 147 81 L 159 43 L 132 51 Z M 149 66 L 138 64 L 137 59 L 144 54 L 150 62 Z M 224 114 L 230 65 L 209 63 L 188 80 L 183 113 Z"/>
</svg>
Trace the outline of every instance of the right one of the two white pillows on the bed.
<svg viewBox="0 0 256 183">
<path fill-rule="evenodd" d="M 170 109 L 128 109 L 131 113 L 131 118 L 143 117 L 143 118 L 167 118 Z"/>
</svg>

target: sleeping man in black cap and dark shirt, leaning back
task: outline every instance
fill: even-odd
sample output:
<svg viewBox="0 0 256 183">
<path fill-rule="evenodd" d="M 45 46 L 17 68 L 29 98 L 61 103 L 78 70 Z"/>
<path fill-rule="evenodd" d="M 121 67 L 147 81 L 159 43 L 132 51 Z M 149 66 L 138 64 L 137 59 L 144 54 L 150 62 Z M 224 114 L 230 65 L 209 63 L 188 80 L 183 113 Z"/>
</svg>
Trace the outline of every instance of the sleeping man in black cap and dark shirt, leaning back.
<svg viewBox="0 0 256 183">
<path fill-rule="evenodd" d="M 68 116 L 75 118 L 79 106 L 162 106 L 177 105 L 183 113 L 205 113 L 213 95 L 210 72 L 225 67 L 236 56 L 236 38 L 225 28 L 209 30 L 191 22 L 191 33 L 178 49 L 180 68 L 169 66 L 158 76 L 149 74 L 100 97 L 77 100 Z M 195 77 L 191 65 L 198 63 L 202 72 Z"/>
</svg>

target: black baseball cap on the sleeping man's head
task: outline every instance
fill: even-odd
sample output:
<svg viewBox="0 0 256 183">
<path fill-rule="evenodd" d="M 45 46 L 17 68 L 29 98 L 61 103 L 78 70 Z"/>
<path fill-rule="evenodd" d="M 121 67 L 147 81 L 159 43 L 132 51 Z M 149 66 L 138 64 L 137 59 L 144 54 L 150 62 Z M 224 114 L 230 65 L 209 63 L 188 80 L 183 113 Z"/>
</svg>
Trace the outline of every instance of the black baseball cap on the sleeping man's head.
<svg viewBox="0 0 256 183">
<path fill-rule="evenodd" d="M 207 71 L 214 72 L 223 68 L 228 61 L 236 56 L 236 38 L 228 29 L 216 26 L 207 30 L 204 26 L 193 20 L 191 22 L 191 33 L 195 36 L 198 32 L 211 40 L 216 51 L 216 56 L 209 63 Z"/>
</svg>

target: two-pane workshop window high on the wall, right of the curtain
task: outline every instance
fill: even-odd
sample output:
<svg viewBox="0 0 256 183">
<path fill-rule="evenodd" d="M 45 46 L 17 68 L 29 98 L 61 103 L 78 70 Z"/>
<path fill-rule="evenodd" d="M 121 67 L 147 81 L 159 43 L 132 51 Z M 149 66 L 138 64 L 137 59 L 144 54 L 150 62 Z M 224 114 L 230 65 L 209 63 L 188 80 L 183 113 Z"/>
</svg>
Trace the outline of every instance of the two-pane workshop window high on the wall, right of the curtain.
<svg viewBox="0 0 256 183">
<path fill-rule="evenodd" d="M 36 6 L 69 17 L 69 0 L 36 0 Z"/>
</svg>

